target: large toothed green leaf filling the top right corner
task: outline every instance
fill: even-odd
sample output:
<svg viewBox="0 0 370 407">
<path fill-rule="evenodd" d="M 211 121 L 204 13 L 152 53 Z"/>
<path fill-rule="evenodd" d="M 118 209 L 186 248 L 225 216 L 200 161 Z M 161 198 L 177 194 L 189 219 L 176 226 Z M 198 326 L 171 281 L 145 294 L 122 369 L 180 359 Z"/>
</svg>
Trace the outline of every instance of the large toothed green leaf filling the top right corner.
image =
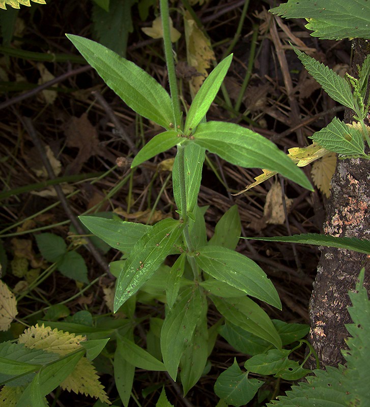
<svg viewBox="0 0 370 407">
<path fill-rule="evenodd" d="M 285 18 L 306 18 L 314 37 L 326 40 L 370 38 L 370 5 L 367 0 L 289 0 L 270 10 Z"/>
</svg>

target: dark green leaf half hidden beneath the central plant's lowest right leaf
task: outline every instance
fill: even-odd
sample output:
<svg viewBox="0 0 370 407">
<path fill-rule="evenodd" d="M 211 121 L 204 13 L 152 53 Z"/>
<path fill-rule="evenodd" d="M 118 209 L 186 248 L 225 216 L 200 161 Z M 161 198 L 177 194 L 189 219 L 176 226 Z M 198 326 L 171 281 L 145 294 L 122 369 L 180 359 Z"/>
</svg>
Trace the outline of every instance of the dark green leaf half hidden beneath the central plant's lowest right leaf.
<svg viewBox="0 0 370 407">
<path fill-rule="evenodd" d="M 238 352 L 245 353 L 246 355 L 259 355 L 271 346 L 268 341 L 230 322 L 227 322 L 220 328 L 220 335 L 235 347 Z"/>
</svg>

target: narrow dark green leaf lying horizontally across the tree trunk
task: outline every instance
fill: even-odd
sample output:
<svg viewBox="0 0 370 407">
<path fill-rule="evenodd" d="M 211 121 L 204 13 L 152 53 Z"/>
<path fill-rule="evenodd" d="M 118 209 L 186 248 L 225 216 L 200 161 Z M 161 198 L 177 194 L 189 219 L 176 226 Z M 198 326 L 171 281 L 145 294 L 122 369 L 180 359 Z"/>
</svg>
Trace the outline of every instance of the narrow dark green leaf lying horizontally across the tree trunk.
<svg viewBox="0 0 370 407">
<path fill-rule="evenodd" d="M 325 247 L 337 247 L 338 249 L 353 250 L 359 253 L 370 254 L 370 240 L 357 238 L 336 238 L 330 235 L 306 233 L 293 236 L 274 236 L 272 238 L 242 238 L 252 240 L 265 240 L 267 242 L 300 243 Z"/>
</svg>

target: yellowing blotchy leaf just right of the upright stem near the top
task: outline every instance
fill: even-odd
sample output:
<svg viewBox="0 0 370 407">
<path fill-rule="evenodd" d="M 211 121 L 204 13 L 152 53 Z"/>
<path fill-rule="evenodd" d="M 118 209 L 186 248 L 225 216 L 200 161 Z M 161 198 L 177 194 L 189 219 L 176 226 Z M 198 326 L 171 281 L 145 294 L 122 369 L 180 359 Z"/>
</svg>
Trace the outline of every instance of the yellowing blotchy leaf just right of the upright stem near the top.
<svg viewBox="0 0 370 407">
<path fill-rule="evenodd" d="M 193 76 L 189 81 L 190 94 L 194 98 L 208 76 L 207 69 L 211 66 L 211 61 L 216 58 L 209 39 L 198 28 L 188 11 L 184 15 L 184 25 L 188 65 L 201 74 L 201 76 Z"/>
</svg>

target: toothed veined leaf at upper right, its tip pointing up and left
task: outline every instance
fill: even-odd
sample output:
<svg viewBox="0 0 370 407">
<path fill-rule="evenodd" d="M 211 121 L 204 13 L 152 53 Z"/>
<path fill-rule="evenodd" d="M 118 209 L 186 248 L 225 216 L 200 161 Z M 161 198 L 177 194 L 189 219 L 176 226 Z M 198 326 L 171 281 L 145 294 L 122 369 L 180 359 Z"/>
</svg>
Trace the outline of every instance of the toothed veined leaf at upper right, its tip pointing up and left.
<svg viewBox="0 0 370 407">
<path fill-rule="evenodd" d="M 339 76 L 329 67 L 315 60 L 315 58 L 306 55 L 295 47 L 293 47 L 293 49 L 308 73 L 321 84 L 324 91 L 333 100 L 353 109 L 353 95 L 351 92 L 351 86 L 347 80 Z"/>
</svg>

